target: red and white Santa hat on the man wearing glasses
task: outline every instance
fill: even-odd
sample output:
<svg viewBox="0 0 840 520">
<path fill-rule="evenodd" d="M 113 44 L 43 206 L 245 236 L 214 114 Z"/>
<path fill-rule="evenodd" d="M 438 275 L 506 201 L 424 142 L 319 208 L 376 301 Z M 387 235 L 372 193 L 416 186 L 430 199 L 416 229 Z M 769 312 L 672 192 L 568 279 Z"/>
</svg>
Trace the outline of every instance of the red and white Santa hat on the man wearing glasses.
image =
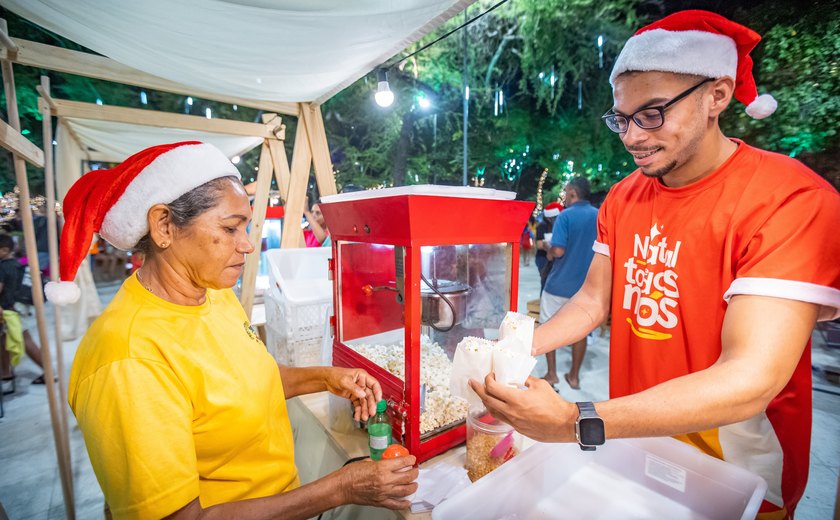
<svg viewBox="0 0 840 520">
<path fill-rule="evenodd" d="M 752 29 L 708 11 L 680 11 L 639 29 L 615 61 L 610 84 L 627 71 L 663 71 L 735 80 L 735 99 L 747 114 L 764 119 L 776 100 L 758 95 L 752 75 L 752 51 L 761 36 Z"/>
</svg>

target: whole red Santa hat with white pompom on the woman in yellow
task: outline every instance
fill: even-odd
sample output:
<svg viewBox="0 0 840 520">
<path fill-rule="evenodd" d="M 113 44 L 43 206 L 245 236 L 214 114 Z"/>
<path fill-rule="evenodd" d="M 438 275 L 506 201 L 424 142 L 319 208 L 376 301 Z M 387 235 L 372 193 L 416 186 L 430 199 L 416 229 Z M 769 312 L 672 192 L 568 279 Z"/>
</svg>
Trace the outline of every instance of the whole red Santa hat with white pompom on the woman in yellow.
<svg viewBox="0 0 840 520">
<path fill-rule="evenodd" d="M 149 232 L 155 204 L 168 204 L 219 177 L 239 171 L 215 146 L 198 141 L 162 144 L 138 152 L 110 170 L 94 170 L 64 197 L 60 282 L 44 288 L 47 299 L 66 305 L 79 299 L 73 283 L 94 233 L 118 249 L 130 250 Z"/>
</svg>

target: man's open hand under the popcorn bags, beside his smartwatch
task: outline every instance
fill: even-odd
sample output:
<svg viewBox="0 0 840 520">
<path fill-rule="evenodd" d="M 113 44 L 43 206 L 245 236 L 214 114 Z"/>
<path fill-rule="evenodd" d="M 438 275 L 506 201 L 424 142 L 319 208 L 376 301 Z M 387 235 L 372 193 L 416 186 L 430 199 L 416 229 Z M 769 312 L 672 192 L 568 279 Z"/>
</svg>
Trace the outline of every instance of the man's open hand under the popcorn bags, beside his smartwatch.
<svg viewBox="0 0 840 520">
<path fill-rule="evenodd" d="M 470 387 L 490 414 L 516 431 L 541 442 L 573 442 L 577 407 L 564 400 L 544 379 L 528 377 L 527 390 L 496 381 L 492 372 L 482 385 L 470 379 Z"/>
</svg>

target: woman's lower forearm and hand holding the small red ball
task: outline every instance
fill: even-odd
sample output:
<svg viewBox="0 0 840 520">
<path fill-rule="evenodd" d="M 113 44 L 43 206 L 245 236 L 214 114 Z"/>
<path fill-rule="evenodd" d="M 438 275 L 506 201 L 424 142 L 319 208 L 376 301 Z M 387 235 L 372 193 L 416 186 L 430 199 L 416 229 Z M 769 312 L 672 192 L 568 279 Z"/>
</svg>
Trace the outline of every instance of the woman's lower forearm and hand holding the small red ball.
<svg viewBox="0 0 840 520">
<path fill-rule="evenodd" d="M 263 498 L 227 502 L 204 509 L 198 498 L 171 514 L 173 520 L 306 519 L 343 504 L 406 509 L 404 497 L 417 491 L 413 456 L 348 464 L 326 477 L 292 491 Z"/>
</svg>

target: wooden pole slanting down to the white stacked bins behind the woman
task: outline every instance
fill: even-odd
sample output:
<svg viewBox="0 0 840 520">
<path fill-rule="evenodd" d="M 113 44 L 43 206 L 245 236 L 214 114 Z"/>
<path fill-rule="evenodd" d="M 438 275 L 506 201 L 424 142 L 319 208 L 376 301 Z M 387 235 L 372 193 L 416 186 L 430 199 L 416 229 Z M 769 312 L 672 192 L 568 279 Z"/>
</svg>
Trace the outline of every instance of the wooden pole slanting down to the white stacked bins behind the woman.
<svg viewBox="0 0 840 520">
<path fill-rule="evenodd" d="M 280 237 L 280 247 L 301 247 L 303 230 L 300 219 L 303 218 L 303 205 L 306 204 L 306 186 L 309 184 L 309 170 L 312 166 L 312 152 L 309 140 L 306 138 L 306 123 L 304 110 L 308 104 L 298 103 L 298 125 L 295 131 L 295 148 L 292 151 L 292 171 L 289 180 L 289 198 L 286 199 L 283 216 L 283 235 Z"/>
</svg>

